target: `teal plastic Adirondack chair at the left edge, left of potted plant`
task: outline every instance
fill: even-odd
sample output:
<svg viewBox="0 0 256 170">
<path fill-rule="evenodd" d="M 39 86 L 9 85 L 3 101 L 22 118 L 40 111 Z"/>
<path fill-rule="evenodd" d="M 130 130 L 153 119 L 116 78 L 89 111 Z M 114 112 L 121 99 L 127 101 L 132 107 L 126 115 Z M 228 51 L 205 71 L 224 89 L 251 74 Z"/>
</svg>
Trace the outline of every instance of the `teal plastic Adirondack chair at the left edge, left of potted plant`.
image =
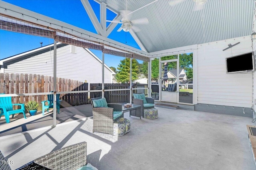
<svg viewBox="0 0 256 170">
<path fill-rule="evenodd" d="M 12 106 L 20 106 L 20 109 L 14 110 Z M 0 97 L 0 117 L 4 115 L 6 123 L 10 122 L 10 115 L 12 115 L 12 118 L 14 117 L 14 114 L 16 113 L 23 113 L 24 118 L 26 119 L 25 114 L 25 105 L 24 104 L 12 104 L 12 98 L 11 97 Z"/>
</svg>

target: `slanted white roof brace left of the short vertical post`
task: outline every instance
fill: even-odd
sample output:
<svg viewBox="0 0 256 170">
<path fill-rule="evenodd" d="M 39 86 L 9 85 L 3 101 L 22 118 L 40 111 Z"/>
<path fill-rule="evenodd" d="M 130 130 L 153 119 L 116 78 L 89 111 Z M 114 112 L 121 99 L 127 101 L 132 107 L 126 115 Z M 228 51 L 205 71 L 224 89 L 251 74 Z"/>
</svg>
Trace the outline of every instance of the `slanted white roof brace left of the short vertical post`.
<svg viewBox="0 0 256 170">
<path fill-rule="evenodd" d="M 92 9 L 92 6 L 90 5 L 90 2 L 88 0 L 81 0 L 83 6 L 84 6 L 84 9 L 86 10 L 90 20 L 92 21 L 92 25 L 94 26 L 94 28 L 96 29 L 97 33 L 99 35 L 103 35 L 103 29 L 100 25 L 100 22 L 98 21 L 98 18 L 96 17 L 93 9 Z"/>
</svg>

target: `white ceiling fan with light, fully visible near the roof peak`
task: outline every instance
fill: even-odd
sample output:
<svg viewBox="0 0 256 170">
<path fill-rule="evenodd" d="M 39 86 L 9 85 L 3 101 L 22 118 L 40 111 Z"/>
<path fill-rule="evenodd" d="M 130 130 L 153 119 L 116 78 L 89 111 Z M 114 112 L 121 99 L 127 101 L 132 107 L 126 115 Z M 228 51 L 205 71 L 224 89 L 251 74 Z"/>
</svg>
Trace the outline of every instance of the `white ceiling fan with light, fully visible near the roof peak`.
<svg viewBox="0 0 256 170">
<path fill-rule="evenodd" d="M 137 10 L 133 11 L 133 12 L 136 12 L 154 2 L 156 2 L 158 0 L 155 0 L 153 2 L 150 2 L 149 4 L 146 4 L 145 6 L 142 6 L 141 8 L 138 8 Z M 138 27 L 136 27 L 135 25 L 136 24 L 147 24 L 148 23 L 148 19 L 147 18 L 140 18 L 140 19 L 137 19 L 137 20 L 130 20 L 129 18 L 129 15 L 132 14 L 133 12 L 131 11 L 128 11 L 127 10 L 127 0 L 126 0 L 126 10 L 122 10 L 121 11 L 121 16 L 122 16 L 122 20 L 121 21 L 118 21 L 118 20 L 113 20 L 113 21 L 110 21 L 110 20 L 107 20 L 107 22 L 114 22 L 114 23 L 122 23 L 121 27 L 117 30 L 118 32 L 120 31 L 125 31 L 125 32 L 128 32 L 130 30 L 134 31 L 134 32 L 138 32 L 140 31 L 140 29 L 138 29 Z"/>
</svg>

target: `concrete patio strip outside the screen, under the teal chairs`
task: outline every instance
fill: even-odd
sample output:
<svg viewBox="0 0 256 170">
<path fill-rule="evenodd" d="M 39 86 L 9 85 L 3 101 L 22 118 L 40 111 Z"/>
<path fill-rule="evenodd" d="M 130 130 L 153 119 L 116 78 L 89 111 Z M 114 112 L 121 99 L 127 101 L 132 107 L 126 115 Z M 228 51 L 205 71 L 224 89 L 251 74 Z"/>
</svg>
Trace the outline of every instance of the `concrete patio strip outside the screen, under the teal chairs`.
<svg viewBox="0 0 256 170">
<path fill-rule="evenodd" d="M 56 124 L 91 116 L 91 104 L 63 107 L 60 108 L 60 113 L 56 114 Z M 14 118 L 10 118 L 10 123 L 6 123 L 5 117 L 2 116 L 0 118 L 0 137 L 53 125 L 52 110 L 49 110 L 48 113 L 45 111 L 44 115 L 42 115 L 42 111 L 36 113 L 34 116 L 30 116 L 29 113 L 26 113 L 26 117 L 27 118 L 24 119 L 22 113 L 16 114 Z"/>
</svg>

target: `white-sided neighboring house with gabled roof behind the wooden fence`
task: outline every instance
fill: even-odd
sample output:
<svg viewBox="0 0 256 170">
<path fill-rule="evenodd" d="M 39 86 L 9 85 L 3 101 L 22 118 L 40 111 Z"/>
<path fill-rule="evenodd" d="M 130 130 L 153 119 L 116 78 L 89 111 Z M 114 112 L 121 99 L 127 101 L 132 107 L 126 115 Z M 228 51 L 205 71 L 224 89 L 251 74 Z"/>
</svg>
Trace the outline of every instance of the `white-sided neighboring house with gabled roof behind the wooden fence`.
<svg viewBox="0 0 256 170">
<path fill-rule="evenodd" d="M 53 44 L 0 60 L 1 73 L 23 73 L 53 76 Z M 57 73 L 68 78 L 90 83 L 102 82 L 102 61 L 90 50 L 57 43 Z M 106 64 L 104 83 L 112 83 L 115 74 Z M 90 86 L 89 86 L 90 87 Z"/>
</svg>

